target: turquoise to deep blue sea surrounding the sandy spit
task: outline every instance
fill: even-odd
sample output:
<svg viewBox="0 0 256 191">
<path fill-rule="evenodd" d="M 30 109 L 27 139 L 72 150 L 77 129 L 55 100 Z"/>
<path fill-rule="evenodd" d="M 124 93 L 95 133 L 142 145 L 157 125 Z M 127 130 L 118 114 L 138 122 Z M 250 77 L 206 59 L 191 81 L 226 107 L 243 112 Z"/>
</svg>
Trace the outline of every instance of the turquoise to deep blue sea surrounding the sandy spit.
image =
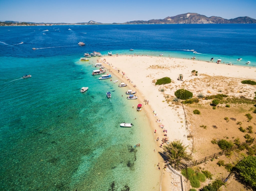
<svg viewBox="0 0 256 191">
<path fill-rule="evenodd" d="M 195 56 L 194 49 L 200 60 L 253 67 L 256 25 L 0 27 L 0 190 L 159 190 L 145 113 L 132 109 L 138 103 L 124 99 L 124 89 L 91 75 L 97 58 L 79 61 L 87 52 L 130 48 L 176 58 Z"/>
</svg>

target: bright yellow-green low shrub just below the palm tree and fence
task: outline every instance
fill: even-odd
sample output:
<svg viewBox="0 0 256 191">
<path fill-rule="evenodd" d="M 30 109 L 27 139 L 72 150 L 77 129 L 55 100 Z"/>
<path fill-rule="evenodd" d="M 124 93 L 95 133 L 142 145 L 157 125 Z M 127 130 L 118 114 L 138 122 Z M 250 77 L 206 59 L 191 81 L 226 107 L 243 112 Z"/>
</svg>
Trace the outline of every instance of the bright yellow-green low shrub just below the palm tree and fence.
<svg viewBox="0 0 256 191">
<path fill-rule="evenodd" d="M 201 172 L 198 171 L 194 171 L 191 168 L 187 168 L 183 169 L 181 171 L 182 175 L 185 176 L 186 178 L 188 178 L 190 185 L 193 188 L 199 188 L 200 187 L 200 182 L 205 182 L 206 181 L 206 177 L 204 174 L 202 174 Z"/>
</svg>

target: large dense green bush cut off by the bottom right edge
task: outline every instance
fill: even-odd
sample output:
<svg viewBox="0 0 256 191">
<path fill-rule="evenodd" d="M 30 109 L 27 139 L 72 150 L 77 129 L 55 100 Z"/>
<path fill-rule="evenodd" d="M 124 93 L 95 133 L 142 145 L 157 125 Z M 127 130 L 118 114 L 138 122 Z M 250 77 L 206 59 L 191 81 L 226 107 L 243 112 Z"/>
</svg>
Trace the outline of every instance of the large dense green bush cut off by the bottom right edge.
<svg viewBox="0 0 256 191">
<path fill-rule="evenodd" d="M 235 167 L 238 176 L 253 189 L 256 189 L 256 157 L 244 157 Z"/>
</svg>

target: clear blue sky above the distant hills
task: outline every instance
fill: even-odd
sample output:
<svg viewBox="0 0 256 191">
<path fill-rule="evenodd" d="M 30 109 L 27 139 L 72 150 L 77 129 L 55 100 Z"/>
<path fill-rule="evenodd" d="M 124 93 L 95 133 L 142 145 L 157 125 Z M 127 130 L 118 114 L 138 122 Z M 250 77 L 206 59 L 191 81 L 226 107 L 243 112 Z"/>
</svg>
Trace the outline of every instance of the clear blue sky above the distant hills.
<svg viewBox="0 0 256 191">
<path fill-rule="evenodd" d="M 124 23 L 164 19 L 187 12 L 225 19 L 256 19 L 256 0 L 0 0 L 1 21 Z"/>
</svg>

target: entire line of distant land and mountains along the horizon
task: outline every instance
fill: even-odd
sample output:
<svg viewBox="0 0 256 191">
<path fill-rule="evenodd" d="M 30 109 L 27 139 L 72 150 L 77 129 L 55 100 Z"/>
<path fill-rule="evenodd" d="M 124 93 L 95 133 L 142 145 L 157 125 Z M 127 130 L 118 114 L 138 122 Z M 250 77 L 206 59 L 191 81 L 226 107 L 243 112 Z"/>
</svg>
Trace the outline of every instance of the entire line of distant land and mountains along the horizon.
<svg viewBox="0 0 256 191">
<path fill-rule="evenodd" d="M 148 21 L 128 21 L 125 23 L 105 23 L 105 24 L 244 24 L 256 23 L 256 19 L 250 17 L 237 17 L 234 19 L 223 19 L 221 17 L 206 17 L 197 13 L 185 13 L 173 17 L 166 17 L 164 19 L 151 19 Z M 0 22 L 0 26 L 17 26 L 17 25 L 67 25 L 67 24 L 104 24 L 101 22 L 89 21 L 80 23 L 34 23 L 34 22 L 17 22 L 17 21 L 4 21 Z"/>
</svg>

